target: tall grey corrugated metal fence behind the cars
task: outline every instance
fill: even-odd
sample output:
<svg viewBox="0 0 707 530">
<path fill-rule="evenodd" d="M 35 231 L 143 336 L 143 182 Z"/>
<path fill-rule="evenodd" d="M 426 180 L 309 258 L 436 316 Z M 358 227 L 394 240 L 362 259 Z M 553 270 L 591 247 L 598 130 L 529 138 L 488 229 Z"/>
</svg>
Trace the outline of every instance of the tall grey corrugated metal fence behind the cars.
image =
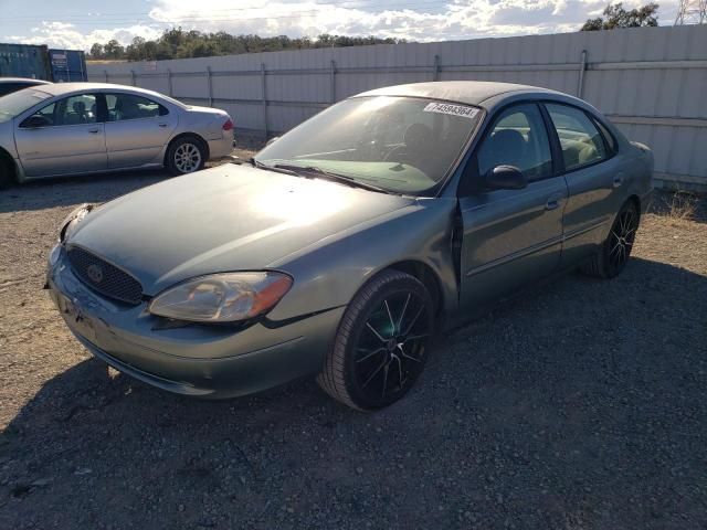
<svg viewBox="0 0 707 530">
<path fill-rule="evenodd" d="M 587 99 L 651 146 L 658 186 L 707 190 L 707 25 L 89 64 L 88 77 L 223 108 L 239 128 L 265 135 L 380 86 L 544 86 Z"/>
</svg>

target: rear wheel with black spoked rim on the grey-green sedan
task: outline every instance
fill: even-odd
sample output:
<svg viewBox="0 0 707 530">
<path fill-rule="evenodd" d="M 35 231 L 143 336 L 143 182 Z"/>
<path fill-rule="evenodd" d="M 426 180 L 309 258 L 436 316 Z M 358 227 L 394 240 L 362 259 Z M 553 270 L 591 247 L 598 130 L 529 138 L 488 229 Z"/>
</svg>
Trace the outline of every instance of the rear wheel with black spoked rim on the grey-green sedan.
<svg viewBox="0 0 707 530">
<path fill-rule="evenodd" d="M 582 273 L 595 278 L 613 278 L 619 276 L 629 263 L 631 250 L 639 230 L 640 213 L 633 201 L 626 201 L 611 226 L 606 240 L 600 251 L 589 263 L 582 266 Z"/>
</svg>

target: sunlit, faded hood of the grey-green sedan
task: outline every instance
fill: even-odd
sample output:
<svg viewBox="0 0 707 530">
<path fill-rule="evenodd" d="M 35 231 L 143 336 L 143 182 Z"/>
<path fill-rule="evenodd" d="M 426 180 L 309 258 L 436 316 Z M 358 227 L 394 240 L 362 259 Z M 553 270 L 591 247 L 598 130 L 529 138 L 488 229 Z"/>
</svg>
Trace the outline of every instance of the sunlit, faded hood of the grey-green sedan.
<svg viewBox="0 0 707 530">
<path fill-rule="evenodd" d="M 128 271 L 147 295 L 180 280 L 254 271 L 414 199 L 225 165 L 93 210 L 71 234 Z"/>
</svg>

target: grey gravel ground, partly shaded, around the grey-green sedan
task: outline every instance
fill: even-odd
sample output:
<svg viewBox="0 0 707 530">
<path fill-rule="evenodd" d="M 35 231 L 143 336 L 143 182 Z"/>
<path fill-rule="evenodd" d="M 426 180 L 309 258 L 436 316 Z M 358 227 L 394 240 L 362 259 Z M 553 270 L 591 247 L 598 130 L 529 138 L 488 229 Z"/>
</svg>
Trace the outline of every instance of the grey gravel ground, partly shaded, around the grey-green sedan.
<svg viewBox="0 0 707 530">
<path fill-rule="evenodd" d="M 635 258 L 440 338 L 372 415 L 313 381 L 224 402 L 93 360 L 41 290 L 75 204 L 163 179 L 0 194 L 0 528 L 707 528 L 707 224 L 644 218 Z"/>
</svg>

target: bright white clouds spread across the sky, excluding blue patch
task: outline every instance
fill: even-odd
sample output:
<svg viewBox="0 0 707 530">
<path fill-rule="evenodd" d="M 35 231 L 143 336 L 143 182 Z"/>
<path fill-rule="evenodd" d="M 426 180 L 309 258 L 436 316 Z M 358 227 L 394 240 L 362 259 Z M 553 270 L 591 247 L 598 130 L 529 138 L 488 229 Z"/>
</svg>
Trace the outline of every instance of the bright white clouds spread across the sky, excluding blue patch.
<svg viewBox="0 0 707 530">
<path fill-rule="evenodd" d="M 155 39 L 166 28 L 181 25 L 200 31 L 226 31 L 261 36 L 317 36 L 321 33 L 376 35 L 415 41 L 509 36 L 578 30 L 590 17 L 597 17 L 606 0 L 449 0 L 446 3 L 411 0 L 155 0 L 149 18 L 143 22 L 113 29 L 81 31 L 64 21 L 46 21 L 30 35 L 10 41 L 46 43 L 56 47 L 87 50 L 94 42 L 133 38 Z M 334 1 L 334 0 L 329 0 Z M 678 0 L 661 2 L 661 21 L 671 23 Z M 626 8 L 645 3 L 624 0 Z M 414 9 L 412 9 L 414 8 Z M 98 21 L 101 19 L 97 19 Z M 109 20 L 105 20 L 109 24 Z"/>
</svg>

